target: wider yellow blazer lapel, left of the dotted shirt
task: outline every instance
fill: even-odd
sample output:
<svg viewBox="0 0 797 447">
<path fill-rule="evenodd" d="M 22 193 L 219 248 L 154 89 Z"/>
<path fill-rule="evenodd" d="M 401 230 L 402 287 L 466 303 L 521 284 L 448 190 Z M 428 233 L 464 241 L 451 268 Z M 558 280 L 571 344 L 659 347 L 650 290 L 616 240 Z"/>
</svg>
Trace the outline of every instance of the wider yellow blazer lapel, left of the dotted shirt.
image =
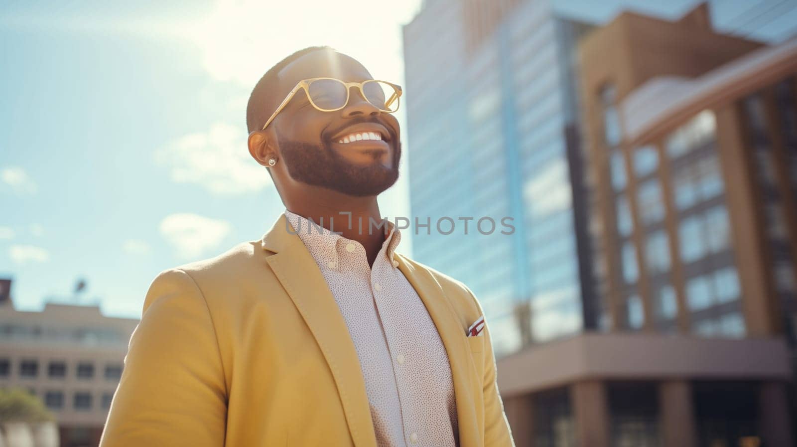
<svg viewBox="0 0 797 447">
<path fill-rule="evenodd" d="M 354 343 L 324 276 L 285 214 L 263 237 L 266 258 L 324 353 L 356 447 L 376 447 L 371 408 Z M 290 232 L 289 232 L 290 231 Z"/>
</svg>

